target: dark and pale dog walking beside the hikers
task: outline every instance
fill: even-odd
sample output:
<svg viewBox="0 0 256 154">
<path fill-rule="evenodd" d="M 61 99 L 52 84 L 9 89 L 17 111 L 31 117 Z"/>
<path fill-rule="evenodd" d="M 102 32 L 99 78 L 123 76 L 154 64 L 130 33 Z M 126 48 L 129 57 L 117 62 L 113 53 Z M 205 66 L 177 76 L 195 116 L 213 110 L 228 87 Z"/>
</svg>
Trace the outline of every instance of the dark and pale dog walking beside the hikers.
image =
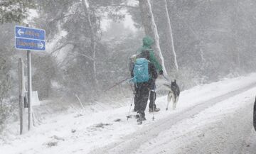
<svg viewBox="0 0 256 154">
<path fill-rule="evenodd" d="M 174 79 L 174 82 L 171 82 L 171 84 L 164 84 L 164 87 L 166 87 L 167 90 L 169 91 L 167 95 L 166 110 L 168 110 L 168 106 L 171 100 L 173 101 L 173 109 L 176 109 L 178 97 L 180 94 L 180 89 L 178 87 L 178 84 L 176 83 L 176 79 Z"/>
</svg>

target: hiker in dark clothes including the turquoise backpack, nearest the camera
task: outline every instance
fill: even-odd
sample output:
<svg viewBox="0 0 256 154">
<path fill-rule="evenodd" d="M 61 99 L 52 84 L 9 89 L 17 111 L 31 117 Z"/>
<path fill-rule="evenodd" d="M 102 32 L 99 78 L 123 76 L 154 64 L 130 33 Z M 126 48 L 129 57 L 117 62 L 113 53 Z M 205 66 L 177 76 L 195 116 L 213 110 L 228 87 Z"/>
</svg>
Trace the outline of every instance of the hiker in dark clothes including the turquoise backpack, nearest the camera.
<svg viewBox="0 0 256 154">
<path fill-rule="evenodd" d="M 137 113 L 139 118 L 137 119 L 138 124 L 142 124 L 145 121 L 145 109 L 149 94 L 152 91 L 152 83 L 157 78 L 156 67 L 149 61 L 149 51 L 145 50 L 139 58 L 134 61 L 132 67 L 132 82 L 135 87 L 135 98 L 137 105 Z"/>
</svg>

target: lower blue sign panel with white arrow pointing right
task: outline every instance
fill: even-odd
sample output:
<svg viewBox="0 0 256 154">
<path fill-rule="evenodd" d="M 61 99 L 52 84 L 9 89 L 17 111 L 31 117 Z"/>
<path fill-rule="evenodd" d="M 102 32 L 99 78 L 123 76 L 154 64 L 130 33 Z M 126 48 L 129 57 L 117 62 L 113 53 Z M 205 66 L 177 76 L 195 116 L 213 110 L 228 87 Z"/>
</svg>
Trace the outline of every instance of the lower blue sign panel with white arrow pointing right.
<svg viewBox="0 0 256 154">
<path fill-rule="evenodd" d="M 43 40 L 31 40 L 26 38 L 16 38 L 15 47 L 20 50 L 46 50 L 46 42 Z"/>
</svg>

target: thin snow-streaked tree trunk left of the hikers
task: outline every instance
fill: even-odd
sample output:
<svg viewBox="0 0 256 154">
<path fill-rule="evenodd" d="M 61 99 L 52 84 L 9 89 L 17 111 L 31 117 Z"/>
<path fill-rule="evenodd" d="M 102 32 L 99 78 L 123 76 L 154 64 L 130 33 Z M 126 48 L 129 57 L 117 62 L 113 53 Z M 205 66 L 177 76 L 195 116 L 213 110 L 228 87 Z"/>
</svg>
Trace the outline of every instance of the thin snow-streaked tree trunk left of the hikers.
<svg viewBox="0 0 256 154">
<path fill-rule="evenodd" d="M 88 21 L 88 26 L 90 28 L 90 38 L 91 38 L 91 49 L 92 49 L 92 58 L 93 58 L 93 78 L 95 79 L 95 83 L 98 84 L 97 81 L 97 70 L 96 70 L 96 61 L 95 61 L 95 57 L 96 57 L 96 35 L 95 35 L 95 31 L 93 29 L 92 26 L 92 22 L 90 19 L 90 9 L 89 9 L 89 3 L 87 0 L 82 0 L 82 5 L 83 5 L 83 9 L 85 11 L 85 16 L 87 18 Z"/>
</svg>

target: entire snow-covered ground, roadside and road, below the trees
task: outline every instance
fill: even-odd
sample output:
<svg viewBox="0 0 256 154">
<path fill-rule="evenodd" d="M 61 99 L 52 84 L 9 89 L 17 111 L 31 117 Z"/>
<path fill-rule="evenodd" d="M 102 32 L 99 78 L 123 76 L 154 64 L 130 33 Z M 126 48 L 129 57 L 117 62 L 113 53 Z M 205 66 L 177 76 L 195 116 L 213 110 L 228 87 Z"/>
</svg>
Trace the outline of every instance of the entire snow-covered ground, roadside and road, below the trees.
<svg viewBox="0 0 256 154">
<path fill-rule="evenodd" d="M 22 136 L 13 123 L 0 140 L 0 153 L 253 154 L 255 95 L 256 74 L 251 74 L 183 91 L 175 111 L 165 111 L 166 97 L 159 97 L 156 119 L 146 109 L 147 121 L 140 126 L 126 118 L 131 101 L 116 109 L 54 115 Z"/>
</svg>

